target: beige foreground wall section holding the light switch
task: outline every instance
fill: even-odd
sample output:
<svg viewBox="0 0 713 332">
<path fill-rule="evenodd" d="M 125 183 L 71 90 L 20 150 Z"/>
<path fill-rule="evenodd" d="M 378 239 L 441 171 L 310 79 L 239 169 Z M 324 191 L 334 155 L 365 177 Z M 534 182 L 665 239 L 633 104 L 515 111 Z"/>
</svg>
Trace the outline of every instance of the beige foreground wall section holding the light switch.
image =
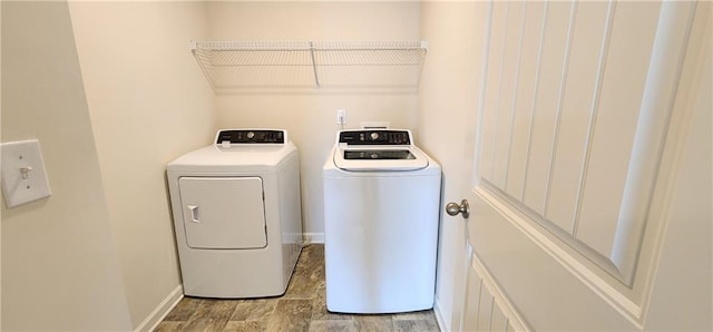
<svg viewBox="0 0 713 332">
<path fill-rule="evenodd" d="M 38 138 L 52 196 L 2 205 L 2 331 L 131 328 L 66 2 L 2 2 L 2 141 Z"/>
</svg>

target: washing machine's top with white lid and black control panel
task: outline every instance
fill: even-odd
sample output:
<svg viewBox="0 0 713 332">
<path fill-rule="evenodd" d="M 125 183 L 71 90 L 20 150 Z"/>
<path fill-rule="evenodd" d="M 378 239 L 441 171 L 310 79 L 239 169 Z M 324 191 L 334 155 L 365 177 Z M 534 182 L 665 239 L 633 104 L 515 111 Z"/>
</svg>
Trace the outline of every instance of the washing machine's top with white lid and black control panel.
<svg viewBox="0 0 713 332">
<path fill-rule="evenodd" d="M 428 167 L 426 154 L 413 146 L 410 130 L 341 130 L 334 164 L 344 170 L 416 170 Z"/>
</svg>

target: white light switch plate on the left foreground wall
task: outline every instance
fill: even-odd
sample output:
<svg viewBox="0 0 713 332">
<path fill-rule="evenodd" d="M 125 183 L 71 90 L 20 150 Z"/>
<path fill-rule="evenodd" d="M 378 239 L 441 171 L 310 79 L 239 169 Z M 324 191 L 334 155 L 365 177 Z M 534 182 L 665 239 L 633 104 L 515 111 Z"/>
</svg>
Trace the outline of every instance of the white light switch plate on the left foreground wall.
<svg viewBox="0 0 713 332">
<path fill-rule="evenodd" d="M 0 148 L 2 194 L 8 207 L 51 195 L 39 140 L 3 143 Z"/>
</svg>

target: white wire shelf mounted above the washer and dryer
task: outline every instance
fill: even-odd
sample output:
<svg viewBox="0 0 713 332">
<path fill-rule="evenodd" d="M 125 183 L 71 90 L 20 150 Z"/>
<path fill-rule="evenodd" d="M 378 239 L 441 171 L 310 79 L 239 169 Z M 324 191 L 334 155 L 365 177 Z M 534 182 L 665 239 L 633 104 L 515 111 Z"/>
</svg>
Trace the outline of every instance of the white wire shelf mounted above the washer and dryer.
<svg viewBox="0 0 713 332">
<path fill-rule="evenodd" d="M 216 94 L 251 90 L 418 91 L 426 41 L 194 41 Z"/>
</svg>

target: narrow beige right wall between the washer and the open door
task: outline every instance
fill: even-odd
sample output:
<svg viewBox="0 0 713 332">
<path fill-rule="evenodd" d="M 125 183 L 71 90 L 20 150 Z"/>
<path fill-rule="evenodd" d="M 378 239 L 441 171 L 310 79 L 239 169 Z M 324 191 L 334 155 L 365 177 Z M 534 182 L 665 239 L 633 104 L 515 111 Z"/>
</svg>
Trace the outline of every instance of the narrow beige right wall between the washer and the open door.
<svg viewBox="0 0 713 332">
<path fill-rule="evenodd" d="M 429 53 L 421 77 L 418 129 L 421 147 L 443 169 L 442 206 L 460 202 L 470 185 L 473 128 L 485 2 L 424 1 L 421 33 Z M 441 212 L 442 213 L 442 212 Z M 462 311 L 466 234 L 463 219 L 442 213 L 439 238 L 437 314 L 445 328 L 457 330 Z"/>
</svg>

